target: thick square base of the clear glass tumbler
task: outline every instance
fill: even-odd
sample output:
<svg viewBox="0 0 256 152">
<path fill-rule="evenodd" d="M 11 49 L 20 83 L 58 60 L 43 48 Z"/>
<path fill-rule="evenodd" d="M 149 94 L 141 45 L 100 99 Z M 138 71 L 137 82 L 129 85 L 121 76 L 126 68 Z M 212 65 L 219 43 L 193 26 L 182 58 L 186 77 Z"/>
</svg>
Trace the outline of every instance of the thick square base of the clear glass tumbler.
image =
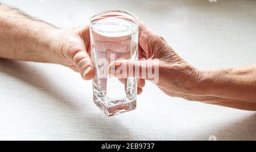
<svg viewBox="0 0 256 152">
<path fill-rule="evenodd" d="M 118 100 L 109 100 L 105 99 L 104 101 L 96 98 L 96 95 L 93 95 L 93 101 L 106 116 L 114 116 L 123 112 L 131 111 L 136 109 L 136 100 L 128 100 L 127 98 L 118 99 Z"/>
</svg>

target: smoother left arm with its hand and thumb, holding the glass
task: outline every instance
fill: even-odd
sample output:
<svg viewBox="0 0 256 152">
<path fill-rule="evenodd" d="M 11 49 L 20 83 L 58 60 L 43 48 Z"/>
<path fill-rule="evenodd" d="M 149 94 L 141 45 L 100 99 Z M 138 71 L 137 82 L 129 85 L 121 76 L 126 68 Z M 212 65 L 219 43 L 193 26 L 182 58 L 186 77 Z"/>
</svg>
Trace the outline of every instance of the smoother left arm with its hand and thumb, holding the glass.
<svg viewBox="0 0 256 152">
<path fill-rule="evenodd" d="M 0 58 L 61 64 L 92 79 L 88 53 L 88 26 L 56 28 L 0 4 Z"/>
</svg>

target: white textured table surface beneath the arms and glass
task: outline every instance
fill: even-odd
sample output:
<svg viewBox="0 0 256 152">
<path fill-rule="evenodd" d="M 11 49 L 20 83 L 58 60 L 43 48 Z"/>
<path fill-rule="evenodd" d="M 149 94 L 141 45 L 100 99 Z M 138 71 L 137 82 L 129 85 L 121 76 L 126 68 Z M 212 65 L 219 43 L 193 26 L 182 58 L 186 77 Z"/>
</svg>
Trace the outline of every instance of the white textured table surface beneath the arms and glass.
<svg viewBox="0 0 256 152">
<path fill-rule="evenodd" d="M 256 1 L 1 2 L 59 27 L 86 24 L 102 10 L 124 9 L 198 68 L 256 62 Z M 136 110 L 107 117 L 92 102 L 92 82 L 72 70 L 0 60 L 0 140 L 209 138 L 256 140 L 256 113 L 171 98 L 148 82 Z"/>
</svg>

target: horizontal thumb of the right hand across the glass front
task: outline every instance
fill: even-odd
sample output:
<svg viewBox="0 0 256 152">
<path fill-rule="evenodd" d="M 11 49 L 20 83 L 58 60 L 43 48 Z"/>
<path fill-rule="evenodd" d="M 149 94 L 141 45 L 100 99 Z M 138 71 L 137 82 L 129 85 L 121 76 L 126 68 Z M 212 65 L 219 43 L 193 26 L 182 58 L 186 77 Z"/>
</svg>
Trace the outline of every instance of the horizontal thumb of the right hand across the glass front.
<svg viewBox="0 0 256 152">
<path fill-rule="evenodd" d="M 157 83 L 159 80 L 159 60 L 113 61 L 109 64 L 109 75 L 117 78 L 135 77 Z"/>
</svg>

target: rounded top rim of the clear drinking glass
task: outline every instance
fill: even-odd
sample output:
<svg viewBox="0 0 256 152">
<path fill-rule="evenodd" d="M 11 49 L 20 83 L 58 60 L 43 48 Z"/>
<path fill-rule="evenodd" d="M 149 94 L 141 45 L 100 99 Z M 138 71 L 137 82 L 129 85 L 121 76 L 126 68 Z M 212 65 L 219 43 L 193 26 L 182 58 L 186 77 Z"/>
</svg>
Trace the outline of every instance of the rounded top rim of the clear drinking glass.
<svg viewBox="0 0 256 152">
<path fill-rule="evenodd" d="M 99 12 L 99 13 L 96 14 L 96 15 L 91 16 L 91 17 L 89 18 L 90 27 L 92 27 L 93 29 L 96 29 L 96 30 L 98 31 L 98 29 L 93 26 L 92 19 L 93 19 L 93 18 L 96 18 L 96 16 L 100 16 L 100 15 L 107 14 L 107 13 L 110 13 L 110 12 L 122 12 L 122 13 L 124 13 L 124 14 L 130 15 L 131 17 L 133 17 L 133 18 L 136 20 L 135 28 L 138 28 L 138 26 L 139 26 L 139 19 L 138 19 L 138 17 L 137 17 L 136 15 L 134 15 L 133 13 L 129 12 L 129 11 L 119 10 L 119 9 L 105 10 L 105 11 Z M 134 27 L 129 27 L 129 28 L 126 29 L 125 31 L 128 31 L 129 29 L 132 29 L 132 28 L 134 28 Z M 117 32 L 118 32 L 118 31 L 117 31 Z"/>
</svg>

